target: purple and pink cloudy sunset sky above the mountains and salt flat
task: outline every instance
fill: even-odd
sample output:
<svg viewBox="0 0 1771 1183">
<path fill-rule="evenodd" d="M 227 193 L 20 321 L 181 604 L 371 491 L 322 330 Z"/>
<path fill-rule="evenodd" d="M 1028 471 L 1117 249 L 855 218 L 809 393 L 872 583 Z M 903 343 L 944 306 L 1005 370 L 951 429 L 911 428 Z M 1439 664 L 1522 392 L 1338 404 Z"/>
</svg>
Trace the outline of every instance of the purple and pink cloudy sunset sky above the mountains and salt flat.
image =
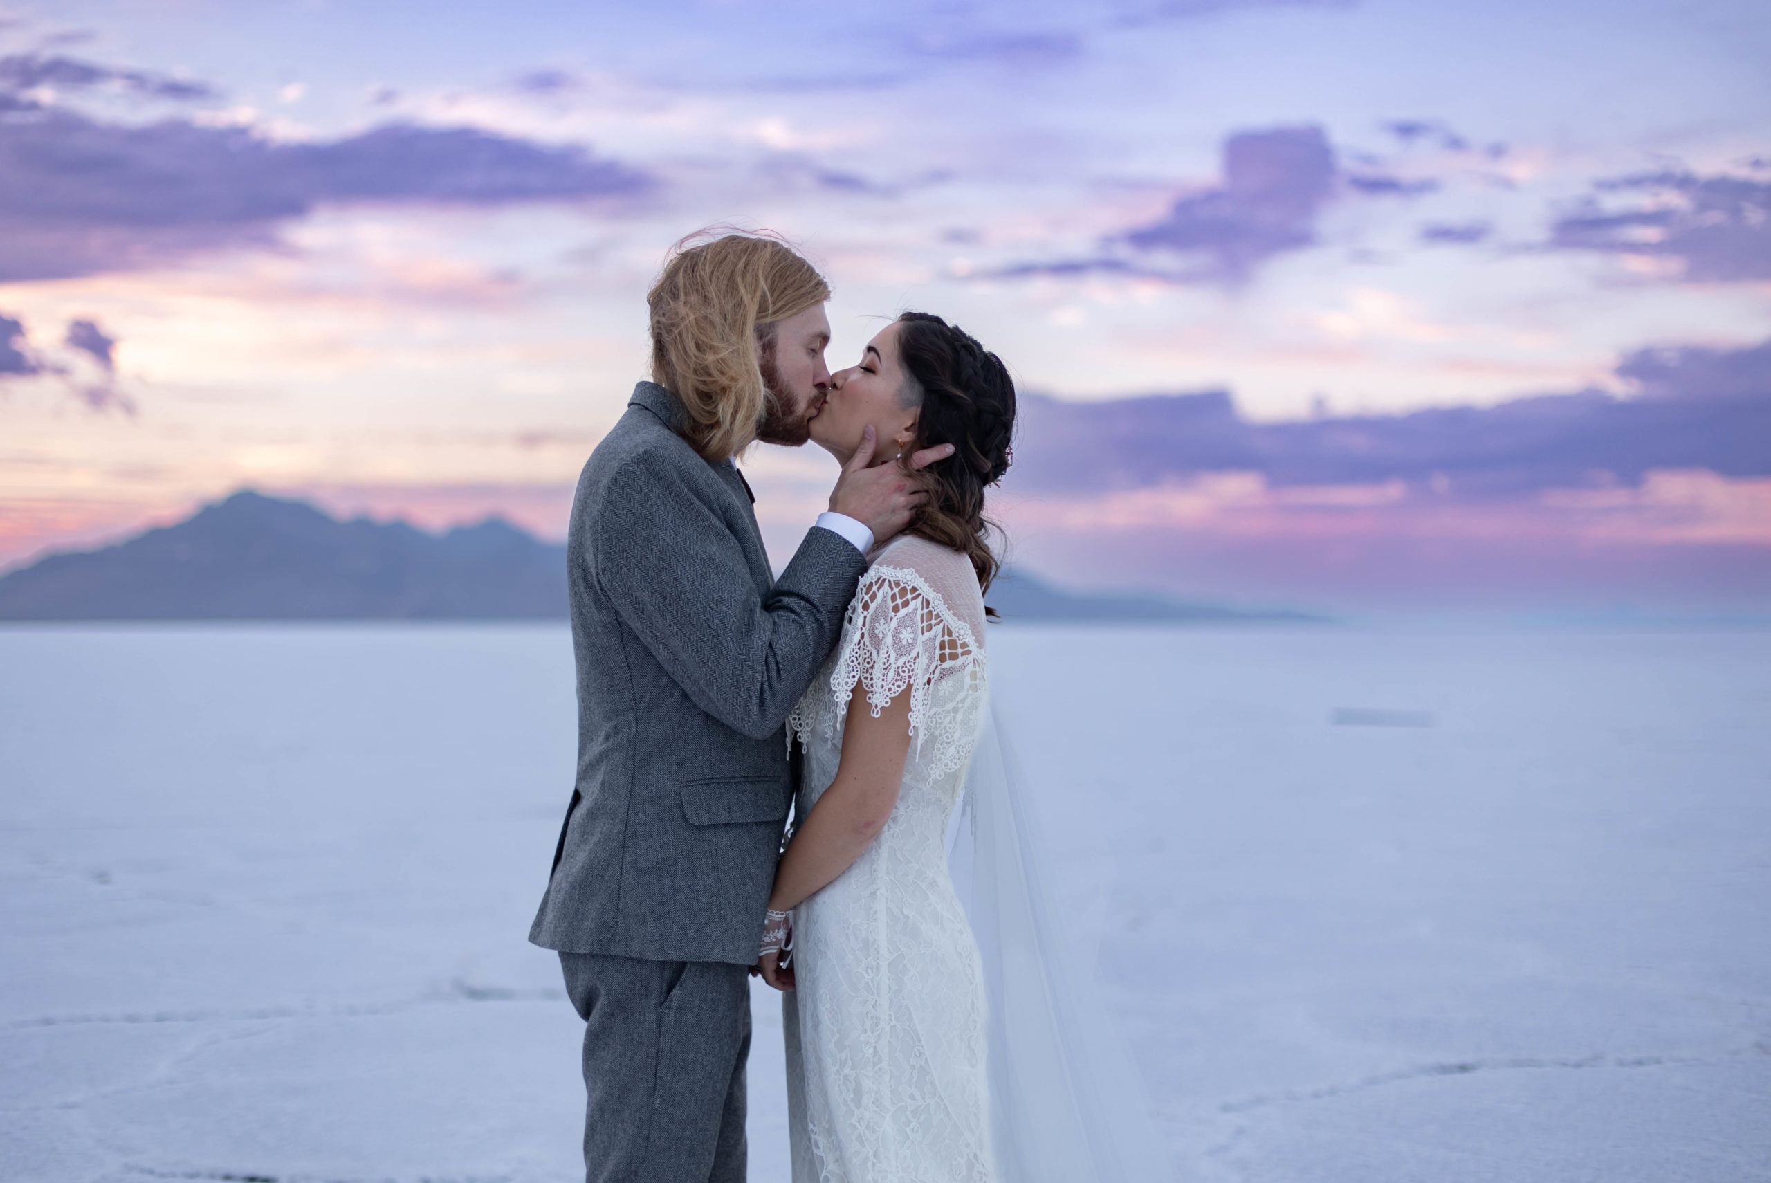
<svg viewBox="0 0 1771 1183">
<path fill-rule="evenodd" d="M 1767 609 L 1766 62 L 1757 0 L 0 0 L 0 565 L 248 485 L 561 537 L 735 223 L 832 367 L 914 306 L 1048 397 L 1059 583 Z M 785 558 L 834 468 L 746 464 Z"/>
</svg>

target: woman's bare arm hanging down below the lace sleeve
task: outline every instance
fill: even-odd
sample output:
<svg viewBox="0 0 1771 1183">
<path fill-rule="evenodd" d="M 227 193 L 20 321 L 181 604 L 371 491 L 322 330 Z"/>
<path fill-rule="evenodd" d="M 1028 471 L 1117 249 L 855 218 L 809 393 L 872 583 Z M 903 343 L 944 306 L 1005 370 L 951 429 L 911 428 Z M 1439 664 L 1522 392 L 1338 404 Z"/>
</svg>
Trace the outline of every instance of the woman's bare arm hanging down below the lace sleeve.
<svg viewBox="0 0 1771 1183">
<path fill-rule="evenodd" d="M 857 687 L 859 689 L 859 687 Z M 873 717 L 866 694 L 848 700 L 843 723 L 843 754 L 836 779 L 818 795 L 806 820 L 793 831 L 793 841 L 776 868 L 769 907 L 786 912 L 806 896 L 847 871 L 878 832 L 886 829 L 903 762 L 910 754 L 910 692 L 898 692 Z"/>
</svg>

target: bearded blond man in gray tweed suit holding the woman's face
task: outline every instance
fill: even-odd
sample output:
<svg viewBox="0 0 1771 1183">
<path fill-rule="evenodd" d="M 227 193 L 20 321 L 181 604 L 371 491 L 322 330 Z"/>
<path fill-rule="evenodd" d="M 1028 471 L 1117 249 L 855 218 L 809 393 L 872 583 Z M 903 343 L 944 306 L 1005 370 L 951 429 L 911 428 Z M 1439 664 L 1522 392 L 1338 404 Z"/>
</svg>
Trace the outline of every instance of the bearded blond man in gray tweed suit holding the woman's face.
<svg viewBox="0 0 1771 1183">
<path fill-rule="evenodd" d="M 652 287 L 652 377 L 584 464 L 567 579 L 577 781 L 530 940 L 584 1020 L 590 1183 L 742 1181 L 749 967 L 792 804 L 785 723 L 875 540 L 923 499 L 871 429 L 776 579 L 733 466 L 824 404 L 829 285 L 726 236 Z M 921 468 L 951 453 L 930 448 Z"/>
</svg>

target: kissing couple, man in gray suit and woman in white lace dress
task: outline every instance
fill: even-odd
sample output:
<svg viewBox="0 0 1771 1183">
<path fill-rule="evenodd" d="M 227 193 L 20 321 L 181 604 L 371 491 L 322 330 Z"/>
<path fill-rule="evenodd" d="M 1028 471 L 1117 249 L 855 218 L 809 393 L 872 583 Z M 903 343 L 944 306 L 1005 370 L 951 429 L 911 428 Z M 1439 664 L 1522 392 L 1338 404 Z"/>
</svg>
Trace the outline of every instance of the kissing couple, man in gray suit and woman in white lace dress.
<svg viewBox="0 0 1771 1183">
<path fill-rule="evenodd" d="M 921 312 L 831 374 L 824 276 L 698 237 L 567 542 L 577 776 L 530 940 L 584 1020 L 586 1179 L 746 1178 L 751 974 L 783 992 L 793 1183 L 1002 1179 L 947 836 L 1015 384 Z M 841 476 L 777 577 L 735 457 L 808 439 Z"/>
</svg>

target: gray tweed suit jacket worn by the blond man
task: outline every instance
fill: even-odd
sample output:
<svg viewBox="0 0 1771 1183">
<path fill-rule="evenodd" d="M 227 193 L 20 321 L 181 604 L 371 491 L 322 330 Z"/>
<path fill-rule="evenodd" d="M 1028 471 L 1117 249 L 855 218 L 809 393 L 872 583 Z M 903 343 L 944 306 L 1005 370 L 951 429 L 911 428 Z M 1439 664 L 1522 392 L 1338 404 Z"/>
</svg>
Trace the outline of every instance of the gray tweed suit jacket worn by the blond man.
<svg viewBox="0 0 1771 1183">
<path fill-rule="evenodd" d="M 577 783 L 530 940 L 749 965 L 792 804 L 785 724 L 866 558 L 811 530 L 774 579 L 749 487 L 639 383 L 567 540 Z"/>
</svg>

